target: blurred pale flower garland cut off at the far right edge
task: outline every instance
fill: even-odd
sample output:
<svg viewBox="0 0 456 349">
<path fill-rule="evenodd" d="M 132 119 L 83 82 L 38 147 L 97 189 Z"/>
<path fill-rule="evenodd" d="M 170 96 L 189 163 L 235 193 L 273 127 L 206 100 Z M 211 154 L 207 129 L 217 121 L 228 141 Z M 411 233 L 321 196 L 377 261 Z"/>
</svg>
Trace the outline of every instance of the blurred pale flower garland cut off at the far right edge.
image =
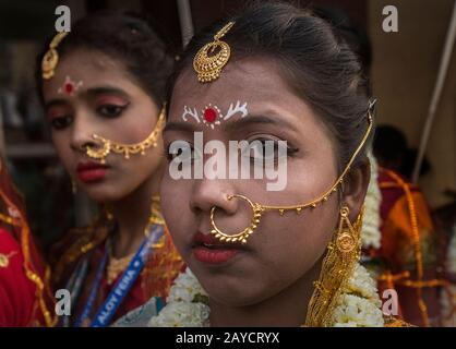
<svg viewBox="0 0 456 349">
<path fill-rule="evenodd" d="M 456 275 L 456 225 L 453 227 L 452 239 L 448 244 L 448 253 L 446 256 L 446 270 L 451 275 Z M 448 294 L 448 292 L 449 294 Z M 451 299 L 451 297 L 453 299 Z M 443 290 L 441 297 L 442 322 L 445 327 L 456 327 L 456 312 L 454 305 L 456 303 L 456 285 L 449 285 L 447 290 Z"/>
</svg>

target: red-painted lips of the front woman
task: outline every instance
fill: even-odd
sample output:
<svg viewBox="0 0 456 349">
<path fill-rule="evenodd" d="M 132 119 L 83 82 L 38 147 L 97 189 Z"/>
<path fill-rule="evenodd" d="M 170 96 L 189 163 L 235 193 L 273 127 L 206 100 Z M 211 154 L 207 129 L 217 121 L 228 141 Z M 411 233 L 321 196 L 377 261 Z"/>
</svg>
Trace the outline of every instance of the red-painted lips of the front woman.
<svg viewBox="0 0 456 349">
<path fill-rule="evenodd" d="M 235 243 L 224 243 L 211 234 L 197 232 L 193 238 L 193 255 L 207 264 L 221 264 L 230 261 L 242 249 Z"/>
</svg>

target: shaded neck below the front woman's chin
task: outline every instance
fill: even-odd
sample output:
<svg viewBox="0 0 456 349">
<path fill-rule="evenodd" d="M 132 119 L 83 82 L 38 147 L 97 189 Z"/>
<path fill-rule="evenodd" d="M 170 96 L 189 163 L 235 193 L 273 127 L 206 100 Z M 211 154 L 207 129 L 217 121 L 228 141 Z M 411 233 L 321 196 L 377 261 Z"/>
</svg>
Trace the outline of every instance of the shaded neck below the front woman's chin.
<svg viewBox="0 0 456 349">
<path fill-rule="evenodd" d="M 317 280 L 322 261 L 315 263 L 295 284 L 280 293 L 254 305 L 232 308 L 209 300 L 211 326 L 214 327 L 299 327 L 305 322 L 313 281 Z"/>
</svg>

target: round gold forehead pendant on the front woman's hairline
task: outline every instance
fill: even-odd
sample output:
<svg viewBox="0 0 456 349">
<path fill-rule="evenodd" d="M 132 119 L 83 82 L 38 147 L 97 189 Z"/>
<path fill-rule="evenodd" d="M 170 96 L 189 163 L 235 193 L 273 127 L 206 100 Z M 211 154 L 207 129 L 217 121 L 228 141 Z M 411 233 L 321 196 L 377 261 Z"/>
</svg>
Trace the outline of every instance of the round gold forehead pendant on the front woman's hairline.
<svg viewBox="0 0 456 349">
<path fill-rule="evenodd" d="M 228 22 L 214 35 L 214 41 L 204 45 L 193 59 L 193 69 L 201 83 L 217 80 L 220 76 L 221 69 L 228 63 L 231 50 L 229 45 L 220 39 L 233 25 L 235 22 Z"/>
</svg>

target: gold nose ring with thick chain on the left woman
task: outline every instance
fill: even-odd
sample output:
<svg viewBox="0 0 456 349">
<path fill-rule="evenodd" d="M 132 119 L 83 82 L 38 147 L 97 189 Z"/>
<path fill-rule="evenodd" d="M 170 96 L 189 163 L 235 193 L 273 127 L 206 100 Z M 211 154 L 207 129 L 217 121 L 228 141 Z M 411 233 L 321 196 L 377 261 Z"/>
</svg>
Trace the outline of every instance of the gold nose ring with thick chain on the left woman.
<svg viewBox="0 0 456 349">
<path fill-rule="evenodd" d="M 85 147 L 85 153 L 89 158 L 99 160 L 101 164 L 106 163 L 106 157 L 110 153 L 116 153 L 123 155 L 125 159 L 130 158 L 130 155 L 141 154 L 145 155 L 145 151 L 149 147 L 156 147 L 158 136 L 160 135 L 164 125 L 165 125 L 165 112 L 166 107 L 161 108 L 160 115 L 158 116 L 158 121 L 154 128 L 154 130 L 151 132 L 151 134 L 142 142 L 134 143 L 134 144 L 122 144 L 117 143 L 115 141 L 105 139 L 98 134 L 93 134 L 93 139 L 99 143 L 101 143 L 101 146 L 91 146 L 87 145 Z"/>
</svg>

